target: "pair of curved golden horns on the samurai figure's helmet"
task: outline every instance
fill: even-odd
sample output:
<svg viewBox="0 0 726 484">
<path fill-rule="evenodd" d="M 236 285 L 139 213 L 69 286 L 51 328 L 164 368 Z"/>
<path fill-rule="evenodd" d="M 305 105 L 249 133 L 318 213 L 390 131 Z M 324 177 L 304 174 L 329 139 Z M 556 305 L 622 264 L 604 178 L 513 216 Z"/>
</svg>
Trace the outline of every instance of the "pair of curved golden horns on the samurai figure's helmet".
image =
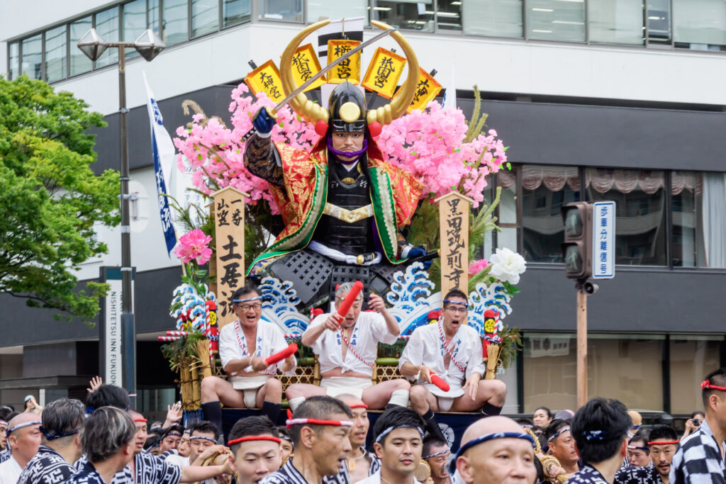
<svg viewBox="0 0 726 484">
<path fill-rule="evenodd" d="M 285 89 L 286 94 L 293 92 L 298 87 L 295 84 L 292 70 L 293 55 L 298 49 L 298 46 L 300 46 L 301 42 L 315 30 L 318 30 L 329 23 L 330 20 L 321 20 L 320 22 L 303 28 L 303 30 L 293 37 L 290 44 L 287 44 L 285 51 L 282 52 L 282 58 L 280 59 L 280 79 L 282 81 L 282 89 Z M 380 28 L 380 30 L 388 30 L 391 28 L 390 25 L 376 20 L 371 20 L 371 25 L 376 28 Z M 401 49 L 406 56 L 408 61 L 408 77 L 406 78 L 404 86 L 401 87 L 401 94 L 396 96 L 393 101 L 389 102 L 385 106 L 379 107 L 378 109 L 369 110 L 367 112 L 366 119 L 369 125 L 376 121 L 378 121 L 381 126 L 391 123 L 391 121 L 398 118 L 406 111 L 406 108 L 409 107 L 416 94 L 419 73 L 416 54 L 413 52 L 412 46 L 398 30 L 391 33 L 391 36 L 393 37 L 393 40 L 401 46 Z M 292 107 L 298 115 L 302 116 L 310 123 L 315 124 L 319 120 L 323 120 L 327 123 L 329 117 L 327 109 L 312 102 L 308 99 L 304 92 L 301 92 L 297 97 L 295 97 L 295 99 L 290 101 L 290 107 Z"/>
</svg>

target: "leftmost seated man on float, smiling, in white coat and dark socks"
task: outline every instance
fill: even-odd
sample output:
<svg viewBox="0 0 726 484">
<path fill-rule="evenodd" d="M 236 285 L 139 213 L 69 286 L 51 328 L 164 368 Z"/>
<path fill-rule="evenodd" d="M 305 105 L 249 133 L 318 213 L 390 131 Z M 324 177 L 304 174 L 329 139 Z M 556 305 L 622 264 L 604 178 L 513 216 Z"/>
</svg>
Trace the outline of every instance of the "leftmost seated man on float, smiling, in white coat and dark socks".
<svg viewBox="0 0 726 484">
<path fill-rule="evenodd" d="M 295 355 L 269 365 L 265 358 L 288 348 L 277 324 L 260 319 L 262 297 L 252 284 L 234 291 L 232 308 L 237 321 L 219 331 L 219 357 L 229 381 L 219 377 L 202 380 L 204 419 L 222 429 L 221 404 L 237 409 L 261 408 L 274 422 L 280 416 L 282 384 L 274 377 L 278 366 L 282 372 L 295 374 Z"/>
</svg>

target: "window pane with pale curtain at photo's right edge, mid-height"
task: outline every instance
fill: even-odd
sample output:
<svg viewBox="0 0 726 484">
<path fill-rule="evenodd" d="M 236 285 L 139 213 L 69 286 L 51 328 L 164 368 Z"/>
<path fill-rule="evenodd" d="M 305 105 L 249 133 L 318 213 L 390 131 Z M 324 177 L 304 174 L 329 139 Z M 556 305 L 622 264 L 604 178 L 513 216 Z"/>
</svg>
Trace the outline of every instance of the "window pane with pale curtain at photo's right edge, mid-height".
<svg viewBox="0 0 726 484">
<path fill-rule="evenodd" d="M 703 194 L 698 197 L 696 185 L 696 205 L 700 207 L 701 217 L 698 230 L 698 266 L 726 268 L 726 173 L 703 173 Z"/>
</svg>

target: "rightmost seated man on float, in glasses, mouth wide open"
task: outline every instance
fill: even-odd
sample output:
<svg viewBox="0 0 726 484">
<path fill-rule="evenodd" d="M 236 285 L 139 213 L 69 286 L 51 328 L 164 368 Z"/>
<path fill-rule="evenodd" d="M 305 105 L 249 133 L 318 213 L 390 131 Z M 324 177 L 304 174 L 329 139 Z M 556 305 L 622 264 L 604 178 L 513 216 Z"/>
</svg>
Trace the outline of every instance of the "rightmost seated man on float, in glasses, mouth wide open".
<svg viewBox="0 0 726 484">
<path fill-rule="evenodd" d="M 417 327 L 399 358 L 401 374 L 419 383 L 411 387 L 411 406 L 433 431 L 433 411 L 481 409 L 483 414 L 498 415 L 504 405 L 504 382 L 482 380 L 486 367 L 482 363 L 481 337 L 466 324 L 468 306 L 462 291 L 449 291 L 441 319 Z M 448 391 L 433 385 L 434 374 L 449 385 Z"/>
</svg>

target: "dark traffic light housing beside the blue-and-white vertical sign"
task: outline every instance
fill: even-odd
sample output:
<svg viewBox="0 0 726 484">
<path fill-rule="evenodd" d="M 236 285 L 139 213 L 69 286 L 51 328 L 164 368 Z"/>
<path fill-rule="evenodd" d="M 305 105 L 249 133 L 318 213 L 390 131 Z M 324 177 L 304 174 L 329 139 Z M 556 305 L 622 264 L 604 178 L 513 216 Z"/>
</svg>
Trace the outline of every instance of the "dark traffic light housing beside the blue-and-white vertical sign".
<svg viewBox="0 0 726 484">
<path fill-rule="evenodd" d="M 562 258 L 565 275 L 570 279 L 588 279 L 592 276 L 592 204 L 568 203 L 562 208 L 565 223 L 565 242 Z"/>
</svg>

